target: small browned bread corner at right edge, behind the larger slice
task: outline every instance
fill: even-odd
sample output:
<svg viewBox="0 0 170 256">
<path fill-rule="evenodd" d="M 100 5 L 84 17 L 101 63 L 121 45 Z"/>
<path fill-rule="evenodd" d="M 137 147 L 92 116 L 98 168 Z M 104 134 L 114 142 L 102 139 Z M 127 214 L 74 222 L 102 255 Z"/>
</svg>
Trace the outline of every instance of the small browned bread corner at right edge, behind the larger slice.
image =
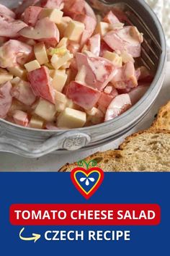
<svg viewBox="0 0 170 256">
<path fill-rule="evenodd" d="M 151 129 L 170 130 L 170 101 L 160 109 Z"/>
</svg>

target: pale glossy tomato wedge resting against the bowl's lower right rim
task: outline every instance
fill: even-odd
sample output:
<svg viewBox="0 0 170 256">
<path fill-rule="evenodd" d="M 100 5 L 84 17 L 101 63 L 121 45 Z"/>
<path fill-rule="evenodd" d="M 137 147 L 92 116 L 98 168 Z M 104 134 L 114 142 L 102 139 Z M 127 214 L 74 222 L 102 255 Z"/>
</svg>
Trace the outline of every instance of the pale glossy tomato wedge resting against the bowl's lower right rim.
<svg viewBox="0 0 170 256">
<path fill-rule="evenodd" d="M 120 114 L 127 111 L 131 106 L 132 103 L 128 93 L 117 95 L 117 97 L 115 97 L 109 104 L 104 121 L 109 121 L 117 116 L 120 116 Z"/>
</svg>

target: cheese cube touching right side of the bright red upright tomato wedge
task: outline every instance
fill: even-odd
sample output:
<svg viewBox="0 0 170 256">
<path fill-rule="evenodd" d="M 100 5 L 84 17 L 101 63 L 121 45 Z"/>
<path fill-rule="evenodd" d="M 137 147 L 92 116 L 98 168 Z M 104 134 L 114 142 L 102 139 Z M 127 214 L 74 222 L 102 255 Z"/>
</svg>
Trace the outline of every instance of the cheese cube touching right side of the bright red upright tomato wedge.
<svg viewBox="0 0 170 256">
<path fill-rule="evenodd" d="M 53 76 L 53 88 L 58 92 L 62 92 L 64 85 L 66 84 L 67 74 L 65 70 L 55 70 Z"/>
</svg>

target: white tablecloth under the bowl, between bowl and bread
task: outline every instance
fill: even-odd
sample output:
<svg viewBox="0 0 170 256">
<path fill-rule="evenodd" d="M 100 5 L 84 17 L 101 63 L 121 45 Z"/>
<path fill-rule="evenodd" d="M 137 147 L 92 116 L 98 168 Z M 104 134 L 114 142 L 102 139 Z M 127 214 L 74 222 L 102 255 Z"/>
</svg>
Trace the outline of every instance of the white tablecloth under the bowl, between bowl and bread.
<svg viewBox="0 0 170 256">
<path fill-rule="evenodd" d="M 148 128 L 158 111 L 158 108 L 164 105 L 167 101 L 170 100 L 170 62 L 167 64 L 166 69 L 166 80 L 164 86 L 161 90 L 161 93 L 158 95 L 156 103 L 153 105 L 153 108 L 148 113 L 148 115 L 143 119 L 143 121 L 138 124 L 133 130 L 128 132 L 128 135 L 133 132 L 137 132 L 141 129 Z M 125 136 L 126 137 L 126 136 Z M 46 155 L 45 157 L 39 159 L 27 159 L 22 158 L 17 155 L 12 155 L 9 153 L 0 153 L 0 171 L 58 171 L 58 169 L 67 162 L 79 161 L 97 151 L 104 151 L 110 148 L 117 148 L 119 143 L 123 140 L 123 137 L 115 142 L 110 142 L 107 145 L 104 145 L 101 148 L 96 148 L 94 150 L 86 151 L 85 153 L 67 153 L 66 155 Z"/>
</svg>

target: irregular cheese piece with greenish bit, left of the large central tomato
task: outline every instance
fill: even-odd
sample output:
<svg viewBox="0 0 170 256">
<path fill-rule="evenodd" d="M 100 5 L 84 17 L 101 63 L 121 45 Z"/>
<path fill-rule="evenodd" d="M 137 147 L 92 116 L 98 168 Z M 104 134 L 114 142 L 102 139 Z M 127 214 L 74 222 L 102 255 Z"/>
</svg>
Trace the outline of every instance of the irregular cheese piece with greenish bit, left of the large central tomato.
<svg viewBox="0 0 170 256">
<path fill-rule="evenodd" d="M 73 54 L 70 54 L 69 51 L 66 51 L 66 54 L 63 54 L 63 56 L 58 56 L 57 54 L 53 54 L 51 58 L 51 64 L 55 69 L 59 69 L 72 58 L 73 58 Z"/>
</svg>

